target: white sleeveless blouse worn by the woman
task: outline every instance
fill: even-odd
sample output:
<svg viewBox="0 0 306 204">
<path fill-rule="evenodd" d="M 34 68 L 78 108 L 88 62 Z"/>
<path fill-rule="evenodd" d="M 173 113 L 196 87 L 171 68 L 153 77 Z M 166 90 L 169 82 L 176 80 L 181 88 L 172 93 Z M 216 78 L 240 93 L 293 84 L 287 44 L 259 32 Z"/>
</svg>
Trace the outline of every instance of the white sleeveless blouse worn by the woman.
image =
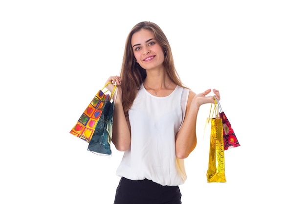
<svg viewBox="0 0 306 204">
<path fill-rule="evenodd" d="M 131 147 L 123 155 L 117 176 L 161 185 L 185 182 L 184 160 L 175 156 L 175 135 L 185 117 L 188 94 L 188 89 L 176 86 L 170 95 L 156 97 L 140 86 L 129 111 Z"/>
</svg>

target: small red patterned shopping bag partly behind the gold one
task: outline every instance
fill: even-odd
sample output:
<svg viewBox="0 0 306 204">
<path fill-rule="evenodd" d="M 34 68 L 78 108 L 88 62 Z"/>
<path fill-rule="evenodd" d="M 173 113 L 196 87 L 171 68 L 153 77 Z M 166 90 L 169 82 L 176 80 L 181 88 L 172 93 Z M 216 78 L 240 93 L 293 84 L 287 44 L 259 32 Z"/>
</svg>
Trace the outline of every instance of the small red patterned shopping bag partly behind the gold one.
<svg viewBox="0 0 306 204">
<path fill-rule="evenodd" d="M 240 144 L 238 142 L 238 139 L 234 133 L 234 130 L 232 129 L 231 123 L 229 122 L 225 113 L 222 111 L 219 100 L 217 100 L 217 103 L 219 109 L 219 116 L 220 118 L 222 118 L 224 150 L 239 147 Z"/>
</svg>

